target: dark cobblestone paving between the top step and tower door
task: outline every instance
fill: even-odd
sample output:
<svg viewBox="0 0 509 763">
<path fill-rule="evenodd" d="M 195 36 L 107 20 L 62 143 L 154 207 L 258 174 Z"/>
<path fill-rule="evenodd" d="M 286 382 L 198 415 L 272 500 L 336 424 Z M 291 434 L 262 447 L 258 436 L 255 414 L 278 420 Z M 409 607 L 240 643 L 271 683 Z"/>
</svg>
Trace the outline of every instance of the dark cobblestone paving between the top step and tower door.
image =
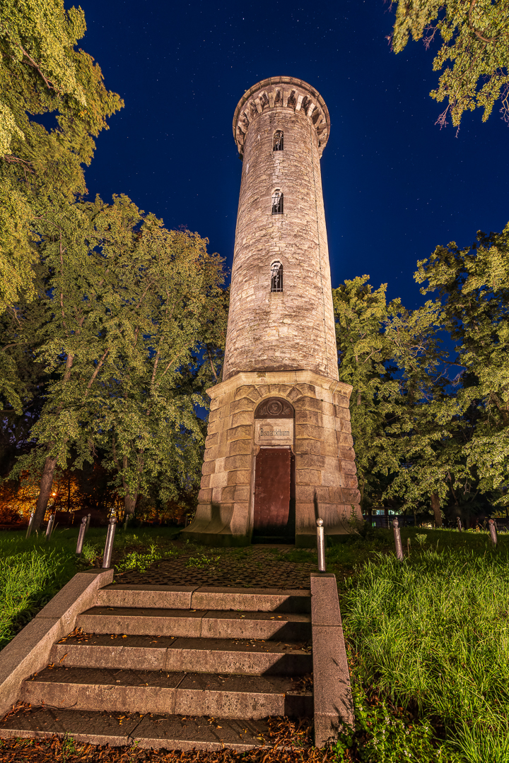
<svg viewBox="0 0 509 763">
<path fill-rule="evenodd" d="M 115 582 L 134 585 L 218 585 L 234 588 L 308 589 L 310 573 L 317 571 L 316 556 L 292 561 L 293 547 L 248 546 L 246 549 L 199 549 L 153 562 L 147 571 L 127 570 Z M 289 555 L 288 559 L 285 556 Z"/>
</svg>

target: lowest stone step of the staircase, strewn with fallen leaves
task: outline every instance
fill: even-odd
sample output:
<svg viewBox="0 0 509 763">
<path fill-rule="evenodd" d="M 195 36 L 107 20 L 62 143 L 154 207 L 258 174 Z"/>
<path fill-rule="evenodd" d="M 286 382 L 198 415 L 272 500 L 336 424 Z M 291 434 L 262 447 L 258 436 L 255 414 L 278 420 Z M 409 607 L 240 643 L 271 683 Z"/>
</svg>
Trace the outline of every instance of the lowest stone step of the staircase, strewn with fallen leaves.
<svg viewBox="0 0 509 763">
<path fill-rule="evenodd" d="M 76 742 L 147 749 L 222 750 L 238 752 L 263 746 L 264 720 L 234 720 L 176 715 L 108 713 L 94 710 L 21 708 L 2 721 L 2 739 L 47 739 L 68 736 Z"/>
</svg>

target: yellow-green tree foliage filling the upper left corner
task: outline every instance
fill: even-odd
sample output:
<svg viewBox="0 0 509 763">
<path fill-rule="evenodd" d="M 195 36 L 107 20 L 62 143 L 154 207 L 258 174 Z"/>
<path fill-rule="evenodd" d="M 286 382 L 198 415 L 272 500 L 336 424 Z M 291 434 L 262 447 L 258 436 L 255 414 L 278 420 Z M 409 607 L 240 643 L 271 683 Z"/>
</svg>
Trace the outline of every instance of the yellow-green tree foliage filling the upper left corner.
<svg viewBox="0 0 509 763">
<path fill-rule="evenodd" d="M 0 310 L 34 298 L 40 217 L 85 193 L 93 138 L 123 105 L 76 50 L 85 29 L 81 8 L 63 0 L 0 0 Z"/>
</svg>

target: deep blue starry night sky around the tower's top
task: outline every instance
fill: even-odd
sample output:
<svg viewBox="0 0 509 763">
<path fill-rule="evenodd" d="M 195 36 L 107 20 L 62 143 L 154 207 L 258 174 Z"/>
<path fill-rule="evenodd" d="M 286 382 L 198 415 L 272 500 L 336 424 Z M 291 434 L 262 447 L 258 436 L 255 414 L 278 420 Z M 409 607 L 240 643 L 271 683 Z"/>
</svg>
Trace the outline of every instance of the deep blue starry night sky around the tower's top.
<svg viewBox="0 0 509 763">
<path fill-rule="evenodd" d="M 367 273 L 415 307 L 417 259 L 509 219 L 509 128 L 496 110 L 485 124 L 466 114 L 458 137 L 434 124 L 433 54 L 421 41 L 391 53 L 383 0 L 81 5 L 80 45 L 125 101 L 98 137 L 89 192 L 125 193 L 166 227 L 198 231 L 228 267 L 241 169 L 232 118 L 269 76 L 310 82 L 330 111 L 321 167 L 333 287 Z"/>
</svg>

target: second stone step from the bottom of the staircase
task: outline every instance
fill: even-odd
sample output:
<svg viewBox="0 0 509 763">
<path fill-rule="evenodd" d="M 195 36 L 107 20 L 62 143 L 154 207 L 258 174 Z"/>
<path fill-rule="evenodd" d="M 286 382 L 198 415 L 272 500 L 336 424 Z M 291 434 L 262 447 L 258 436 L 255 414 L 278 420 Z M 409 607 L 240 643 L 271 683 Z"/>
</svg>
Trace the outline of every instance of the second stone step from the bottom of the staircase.
<svg viewBox="0 0 509 763">
<path fill-rule="evenodd" d="M 44 668 L 24 681 L 20 699 L 33 707 L 253 720 L 313 713 L 305 679 L 185 671 Z"/>
</svg>

